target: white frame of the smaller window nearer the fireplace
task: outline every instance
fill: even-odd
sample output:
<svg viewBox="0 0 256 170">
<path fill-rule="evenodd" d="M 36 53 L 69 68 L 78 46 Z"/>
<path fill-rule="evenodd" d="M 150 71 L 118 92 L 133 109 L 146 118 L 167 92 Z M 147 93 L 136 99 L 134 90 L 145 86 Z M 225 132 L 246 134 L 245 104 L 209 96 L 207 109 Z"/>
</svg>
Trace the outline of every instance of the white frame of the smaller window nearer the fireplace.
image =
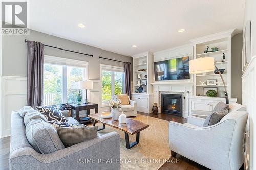
<svg viewBox="0 0 256 170">
<path fill-rule="evenodd" d="M 113 65 L 105 65 L 105 64 L 100 64 L 100 103 L 101 107 L 106 107 L 109 106 L 108 101 L 103 101 L 102 100 L 102 70 L 106 71 L 112 71 L 111 74 L 111 98 L 113 98 L 113 95 L 115 95 L 115 74 L 114 72 L 122 72 L 123 73 L 123 89 L 122 91 L 124 92 L 124 67 L 118 67 L 118 66 L 113 66 Z"/>
</svg>

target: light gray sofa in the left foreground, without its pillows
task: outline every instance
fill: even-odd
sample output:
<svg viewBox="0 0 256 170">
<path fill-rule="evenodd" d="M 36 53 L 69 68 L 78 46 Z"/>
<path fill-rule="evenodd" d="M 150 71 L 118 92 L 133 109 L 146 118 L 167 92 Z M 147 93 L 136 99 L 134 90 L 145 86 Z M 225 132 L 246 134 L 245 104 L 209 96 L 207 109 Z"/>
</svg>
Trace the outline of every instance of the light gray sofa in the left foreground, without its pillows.
<svg viewBox="0 0 256 170">
<path fill-rule="evenodd" d="M 120 169 L 120 136 L 116 132 L 41 154 L 28 142 L 25 129 L 19 111 L 12 112 L 10 169 Z"/>
</svg>

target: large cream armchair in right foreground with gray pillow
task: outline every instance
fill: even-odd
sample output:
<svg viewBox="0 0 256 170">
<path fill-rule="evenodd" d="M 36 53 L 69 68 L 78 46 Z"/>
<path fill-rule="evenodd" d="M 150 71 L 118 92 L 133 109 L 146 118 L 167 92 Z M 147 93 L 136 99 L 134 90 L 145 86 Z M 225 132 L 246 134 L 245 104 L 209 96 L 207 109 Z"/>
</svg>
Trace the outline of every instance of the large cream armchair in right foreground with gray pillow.
<svg viewBox="0 0 256 170">
<path fill-rule="evenodd" d="M 230 109 L 231 112 L 219 123 L 208 127 L 200 127 L 194 122 L 181 124 L 170 121 L 172 156 L 178 153 L 213 170 L 238 170 L 244 163 L 243 143 L 248 113 Z"/>
</svg>

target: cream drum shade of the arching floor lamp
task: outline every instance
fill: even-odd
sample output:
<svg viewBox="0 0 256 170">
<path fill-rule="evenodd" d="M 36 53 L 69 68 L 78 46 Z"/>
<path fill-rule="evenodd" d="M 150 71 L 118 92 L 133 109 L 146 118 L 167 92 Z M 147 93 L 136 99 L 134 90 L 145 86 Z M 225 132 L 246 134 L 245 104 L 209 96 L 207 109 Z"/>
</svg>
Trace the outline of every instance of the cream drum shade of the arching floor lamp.
<svg viewBox="0 0 256 170">
<path fill-rule="evenodd" d="M 203 57 L 203 58 L 197 58 L 189 61 L 190 74 L 210 72 L 214 70 L 215 70 L 215 67 L 214 67 L 213 57 Z"/>
</svg>

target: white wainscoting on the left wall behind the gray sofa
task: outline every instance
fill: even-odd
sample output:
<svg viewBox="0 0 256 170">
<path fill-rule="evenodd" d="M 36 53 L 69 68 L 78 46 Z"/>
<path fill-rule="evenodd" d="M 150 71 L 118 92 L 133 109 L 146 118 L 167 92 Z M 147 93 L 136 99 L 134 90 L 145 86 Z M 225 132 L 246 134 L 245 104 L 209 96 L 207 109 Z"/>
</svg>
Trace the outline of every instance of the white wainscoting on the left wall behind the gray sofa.
<svg viewBox="0 0 256 170">
<path fill-rule="evenodd" d="M 1 76 L 1 137 L 10 135 L 11 112 L 27 103 L 27 77 Z"/>
</svg>

